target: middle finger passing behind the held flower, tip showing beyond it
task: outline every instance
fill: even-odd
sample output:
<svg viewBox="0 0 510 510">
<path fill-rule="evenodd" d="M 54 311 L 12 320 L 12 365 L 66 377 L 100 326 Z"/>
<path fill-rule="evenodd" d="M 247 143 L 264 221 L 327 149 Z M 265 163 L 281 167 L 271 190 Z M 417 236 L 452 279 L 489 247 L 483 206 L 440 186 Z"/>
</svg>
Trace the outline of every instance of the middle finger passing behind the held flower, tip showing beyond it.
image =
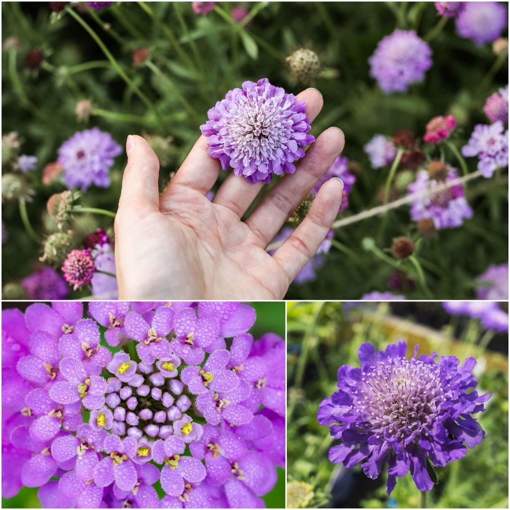
<svg viewBox="0 0 510 510">
<path fill-rule="evenodd" d="M 306 89 L 296 98 L 307 104 L 307 117 L 312 122 L 322 109 L 321 93 L 316 89 Z M 214 195 L 213 203 L 227 207 L 241 217 L 263 186 L 264 183 L 250 184 L 243 177 L 231 173 Z"/>
</svg>

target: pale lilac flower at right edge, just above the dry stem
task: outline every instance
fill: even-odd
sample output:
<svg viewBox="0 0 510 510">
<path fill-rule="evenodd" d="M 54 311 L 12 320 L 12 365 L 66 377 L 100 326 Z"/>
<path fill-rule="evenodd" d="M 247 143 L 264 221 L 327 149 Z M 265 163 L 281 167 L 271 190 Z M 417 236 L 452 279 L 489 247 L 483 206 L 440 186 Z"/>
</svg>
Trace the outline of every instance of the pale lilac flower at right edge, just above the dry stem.
<svg viewBox="0 0 510 510">
<path fill-rule="evenodd" d="M 462 147 L 462 155 L 478 158 L 478 170 L 484 177 L 492 177 L 498 166 L 508 166 L 508 130 L 503 122 L 476 124 L 467 145 Z"/>
</svg>

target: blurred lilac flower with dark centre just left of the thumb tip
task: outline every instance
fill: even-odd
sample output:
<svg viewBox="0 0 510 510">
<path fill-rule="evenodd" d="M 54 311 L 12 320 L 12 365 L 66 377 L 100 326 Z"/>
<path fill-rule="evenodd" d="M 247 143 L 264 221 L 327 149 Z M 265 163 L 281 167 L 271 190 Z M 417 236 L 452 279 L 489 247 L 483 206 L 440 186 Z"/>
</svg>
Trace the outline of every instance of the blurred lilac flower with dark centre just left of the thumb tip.
<svg viewBox="0 0 510 510">
<path fill-rule="evenodd" d="M 110 186 L 110 167 L 122 152 L 109 133 L 97 127 L 79 131 L 59 148 L 58 162 L 64 168 L 68 188 L 85 191 L 91 184 L 99 188 Z"/>
</svg>

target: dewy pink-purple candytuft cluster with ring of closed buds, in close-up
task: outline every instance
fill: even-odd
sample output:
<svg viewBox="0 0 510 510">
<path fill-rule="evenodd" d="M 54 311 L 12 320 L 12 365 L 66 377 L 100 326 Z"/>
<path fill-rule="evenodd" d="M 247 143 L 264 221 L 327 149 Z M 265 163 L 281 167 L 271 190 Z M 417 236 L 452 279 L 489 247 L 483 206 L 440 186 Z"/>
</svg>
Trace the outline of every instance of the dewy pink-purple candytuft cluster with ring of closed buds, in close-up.
<svg viewBox="0 0 510 510">
<path fill-rule="evenodd" d="M 3 311 L 3 496 L 264 506 L 285 465 L 284 340 L 253 340 L 255 312 L 237 302 L 95 301 L 88 315 L 80 302 Z"/>
</svg>

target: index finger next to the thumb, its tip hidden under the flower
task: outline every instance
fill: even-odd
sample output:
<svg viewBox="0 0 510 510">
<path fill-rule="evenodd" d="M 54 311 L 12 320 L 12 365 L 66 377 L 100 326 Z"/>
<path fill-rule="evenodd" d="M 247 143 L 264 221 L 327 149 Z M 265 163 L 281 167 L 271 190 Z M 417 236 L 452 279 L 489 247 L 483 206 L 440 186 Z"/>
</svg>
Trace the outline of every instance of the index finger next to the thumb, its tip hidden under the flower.
<svg viewBox="0 0 510 510">
<path fill-rule="evenodd" d="M 191 188 L 203 195 L 213 187 L 220 172 L 220 162 L 209 156 L 207 140 L 207 137 L 201 135 L 195 142 L 163 194 L 163 199 L 182 187 Z"/>
</svg>

